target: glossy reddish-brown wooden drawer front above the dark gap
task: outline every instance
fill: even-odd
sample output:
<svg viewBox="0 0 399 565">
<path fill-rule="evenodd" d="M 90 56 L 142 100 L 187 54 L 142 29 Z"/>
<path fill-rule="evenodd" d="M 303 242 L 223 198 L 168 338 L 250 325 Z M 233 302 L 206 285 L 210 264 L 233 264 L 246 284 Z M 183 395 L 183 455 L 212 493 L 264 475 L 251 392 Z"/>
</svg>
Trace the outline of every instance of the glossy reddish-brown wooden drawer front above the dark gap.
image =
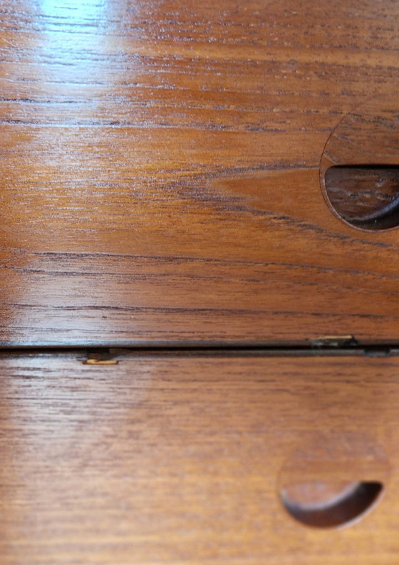
<svg viewBox="0 0 399 565">
<path fill-rule="evenodd" d="M 346 226 L 318 178 L 396 94 L 398 11 L 4 1 L 2 346 L 398 341 L 399 232 Z"/>
</svg>

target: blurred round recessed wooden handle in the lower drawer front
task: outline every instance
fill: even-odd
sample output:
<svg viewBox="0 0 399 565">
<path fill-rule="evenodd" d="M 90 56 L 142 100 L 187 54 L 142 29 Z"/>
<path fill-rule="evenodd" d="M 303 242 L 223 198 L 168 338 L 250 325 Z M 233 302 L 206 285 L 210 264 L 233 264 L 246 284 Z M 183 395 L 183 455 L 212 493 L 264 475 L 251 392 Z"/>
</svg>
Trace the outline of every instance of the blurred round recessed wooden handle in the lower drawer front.
<svg viewBox="0 0 399 565">
<path fill-rule="evenodd" d="M 382 498 L 389 464 L 383 447 L 358 432 L 312 434 L 284 463 L 279 497 L 304 526 L 353 524 Z"/>
</svg>

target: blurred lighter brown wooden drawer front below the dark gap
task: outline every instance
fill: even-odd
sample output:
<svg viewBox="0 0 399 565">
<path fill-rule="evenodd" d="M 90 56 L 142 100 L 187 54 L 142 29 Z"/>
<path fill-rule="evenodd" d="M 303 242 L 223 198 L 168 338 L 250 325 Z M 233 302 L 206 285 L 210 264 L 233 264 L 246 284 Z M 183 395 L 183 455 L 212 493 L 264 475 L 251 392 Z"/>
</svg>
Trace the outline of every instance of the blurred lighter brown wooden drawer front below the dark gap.
<svg viewBox="0 0 399 565">
<path fill-rule="evenodd" d="M 85 358 L 1 354 L 2 565 L 397 564 L 397 356 Z M 289 472 L 385 494 L 317 530 Z"/>
</svg>

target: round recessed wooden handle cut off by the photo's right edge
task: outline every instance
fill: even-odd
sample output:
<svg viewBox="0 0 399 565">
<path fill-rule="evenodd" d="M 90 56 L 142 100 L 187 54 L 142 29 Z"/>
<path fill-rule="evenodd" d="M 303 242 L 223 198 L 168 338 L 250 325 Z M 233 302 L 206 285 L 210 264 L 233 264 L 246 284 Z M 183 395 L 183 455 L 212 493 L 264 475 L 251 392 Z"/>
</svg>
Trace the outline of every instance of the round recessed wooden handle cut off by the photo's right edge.
<svg viewBox="0 0 399 565">
<path fill-rule="evenodd" d="M 399 103 L 368 100 L 346 115 L 324 148 L 321 190 L 343 222 L 371 231 L 399 226 Z"/>
</svg>

